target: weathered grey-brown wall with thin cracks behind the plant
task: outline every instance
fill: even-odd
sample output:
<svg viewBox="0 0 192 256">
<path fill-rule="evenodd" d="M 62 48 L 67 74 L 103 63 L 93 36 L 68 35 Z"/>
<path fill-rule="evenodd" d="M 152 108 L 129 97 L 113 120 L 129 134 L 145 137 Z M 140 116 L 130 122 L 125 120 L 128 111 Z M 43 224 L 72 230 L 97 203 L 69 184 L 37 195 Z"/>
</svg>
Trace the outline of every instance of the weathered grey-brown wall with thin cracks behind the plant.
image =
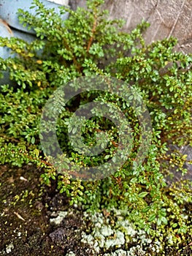
<svg viewBox="0 0 192 256">
<path fill-rule="evenodd" d="M 72 9 L 85 7 L 86 0 L 69 0 Z M 123 18 L 124 31 L 130 31 L 143 19 L 151 25 L 145 32 L 147 43 L 165 37 L 179 39 L 178 50 L 192 53 L 192 0 L 105 0 L 104 9 L 111 18 Z"/>
</svg>

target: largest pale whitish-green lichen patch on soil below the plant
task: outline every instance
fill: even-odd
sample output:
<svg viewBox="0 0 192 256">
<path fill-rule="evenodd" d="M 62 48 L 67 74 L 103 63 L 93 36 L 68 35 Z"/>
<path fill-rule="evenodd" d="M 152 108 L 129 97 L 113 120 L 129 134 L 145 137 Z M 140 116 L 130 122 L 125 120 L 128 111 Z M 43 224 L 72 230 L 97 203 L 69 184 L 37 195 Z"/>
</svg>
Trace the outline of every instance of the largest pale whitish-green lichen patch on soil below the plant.
<svg viewBox="0 0 192 256">
<path fill-rule="evenodd" d="M 118 219 L 113 225 L 110 224 L 110 217 L 104 217 L 101 213 L 89 215 L 84 214 L 84 217 L 92 222 L 91 233 L 82 233 L 82 243 L 93 246 L 96 255 L 100 255 L 101 249 L 115 249 L 115 252 L 105 253 L 104 256 L 110 255 L 126 255 L 126 256 L 145 256 L 147 249 L 153 252 L 160 252 L 161 243 L 153 242 L 148 238 L 144 230 L 136 230 L 125 214 L 120 215 L 120 211 L 115 211 L 115 217 Z M 132 246 L 125 250 L 128 242 L 134 242 L 136 246 Z M 121 249 L 123 248 L 123 249 Z"/>
</svg>

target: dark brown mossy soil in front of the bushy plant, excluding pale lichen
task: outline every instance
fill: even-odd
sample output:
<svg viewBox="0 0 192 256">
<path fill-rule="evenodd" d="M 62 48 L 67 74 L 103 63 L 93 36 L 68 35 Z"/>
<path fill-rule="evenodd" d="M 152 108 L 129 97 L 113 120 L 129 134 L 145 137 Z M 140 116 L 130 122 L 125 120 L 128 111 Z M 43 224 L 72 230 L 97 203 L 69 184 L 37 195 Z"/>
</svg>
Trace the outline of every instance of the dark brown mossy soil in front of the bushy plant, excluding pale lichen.
<svg viewBox="0 0 192 256">
<path fill-rule="evenodd" d="M 91 222 L 83 219 L 81 209 L 69 206 L 69 200 L 57 191 L 54 182 L 50 186 L 41 184 L 42 172 L 34 165 L 22 168 L 1 165 L 0 255 L 104 255 L 102 251 L 94 254 L 90 244 L 82 243 L 81 234 L 93 228 Z M 55 225 L 50 219 L 58 211 L 72 211 L 72 214 Z M 167 249 L 166 255 L 192 255 L 186 241 L 180 246 L 182 254 L 173 246 Z M 112 249 L 107 253 L 112 255 Z"/>
</svg>

